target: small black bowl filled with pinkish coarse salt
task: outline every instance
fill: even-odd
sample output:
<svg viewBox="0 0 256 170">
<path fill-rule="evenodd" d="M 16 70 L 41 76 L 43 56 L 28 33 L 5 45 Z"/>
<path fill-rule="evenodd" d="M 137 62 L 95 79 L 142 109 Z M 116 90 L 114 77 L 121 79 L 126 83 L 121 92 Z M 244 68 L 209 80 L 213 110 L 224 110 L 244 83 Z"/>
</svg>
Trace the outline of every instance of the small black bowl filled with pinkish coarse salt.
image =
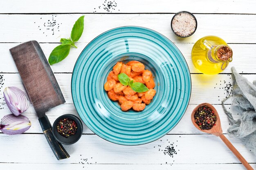
<svg viewBox="0 0 256 170">
<path fill-rule="evenodd" d="M 171 29 L 178 37 L 186 38 L 193 35 L 198 26 L 195 15 L 188 11 L 177 12 L 171 20 Z"/>
</svg>

